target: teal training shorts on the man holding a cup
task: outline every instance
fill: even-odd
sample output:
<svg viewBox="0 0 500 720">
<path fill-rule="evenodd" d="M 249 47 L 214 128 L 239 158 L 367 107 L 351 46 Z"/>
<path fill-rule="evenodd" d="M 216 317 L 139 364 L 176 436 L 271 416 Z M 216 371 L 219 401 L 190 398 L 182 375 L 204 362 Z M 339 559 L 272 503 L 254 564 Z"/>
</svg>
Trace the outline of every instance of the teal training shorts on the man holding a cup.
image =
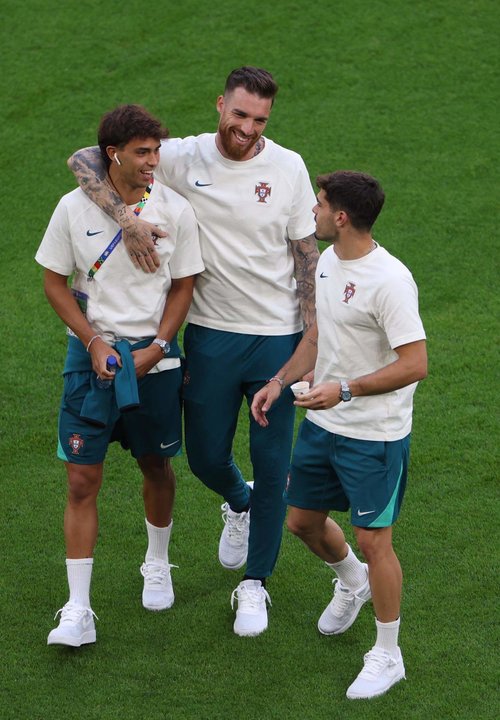
<svg viewBox="0 0 500 720">
<path fill-rule="evenodd" d="M 347 511 L 357 527 L 389 527 L 403 502 L 410 435 L 402 440 L 355 440 L 305 419 L 297 436 L 284 493 L 304 510 Z"/>
</svg>

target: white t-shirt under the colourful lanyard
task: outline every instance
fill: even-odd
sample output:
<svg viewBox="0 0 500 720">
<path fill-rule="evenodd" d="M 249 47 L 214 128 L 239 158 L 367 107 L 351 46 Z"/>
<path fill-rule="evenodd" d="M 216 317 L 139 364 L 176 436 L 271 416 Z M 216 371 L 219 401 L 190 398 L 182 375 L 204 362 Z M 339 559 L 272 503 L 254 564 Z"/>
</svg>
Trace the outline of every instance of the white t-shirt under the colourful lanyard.
<svg viewBox="0 0 500 720">
<path fill-rule="evenodd" d="M 87 320 L 109 343 L 122 338 L 133 343 L 156 335 L 172 279 L 195 275 L 204 268 L 196 218 L 183 197 L 155 182 L 140 217 L 168 233 L 157 241 L 161 265 L 155 273 L 134 268 L 120 241 L 88 280 L 89 269 L 119 226 L 80 188 L 59 201 L 35 256 L 53 272 L 74 273 L 73 290 L 87 296 Z M 178 359 L 168 358 L 155 367 L 165 370 L 178 365 Z"/>
</svg>

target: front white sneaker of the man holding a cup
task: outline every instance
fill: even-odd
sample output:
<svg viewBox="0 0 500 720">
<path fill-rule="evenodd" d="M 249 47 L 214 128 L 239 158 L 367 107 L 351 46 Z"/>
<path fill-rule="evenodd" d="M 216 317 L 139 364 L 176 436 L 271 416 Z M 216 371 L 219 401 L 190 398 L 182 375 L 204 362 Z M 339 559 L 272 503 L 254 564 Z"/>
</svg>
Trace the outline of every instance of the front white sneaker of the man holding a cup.
<svg viewBox="0 0 500 720">
<path fill-rule="evenodd" d="M 366 653 L 365 665 L 347 689 L 346 695 L 350 700 L 377 697 L 405 677 L 403 656 L 399 648 L 397 655 L 393 657 L 387 650 L 373 647 Z"/>
</svg>

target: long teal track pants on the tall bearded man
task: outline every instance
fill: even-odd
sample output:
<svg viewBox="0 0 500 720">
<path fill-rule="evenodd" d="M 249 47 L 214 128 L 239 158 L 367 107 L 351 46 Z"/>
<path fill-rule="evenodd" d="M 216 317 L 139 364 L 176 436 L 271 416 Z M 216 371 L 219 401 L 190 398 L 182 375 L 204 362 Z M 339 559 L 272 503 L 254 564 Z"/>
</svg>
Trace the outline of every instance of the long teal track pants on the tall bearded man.
<svg viewBox="0 0 500 720">
<path fill-rule="evenodd" d="M 189 466 L 233 510 L 245 507 L 250 497 L 232 451 L 243 398 L 250 406 L 254 394 L 288 360 L 300 338 L 301 333 L 260 336 L 192 324 L 186 328 L 184 418 Z M 268 418 L 269 427 L 261 428 L 250 416 L 249 427 L 254 490 L 246 574 L 257 578 L 271 575 L 281 544 L 295 418 L 289 389 Z"/>
</svg>

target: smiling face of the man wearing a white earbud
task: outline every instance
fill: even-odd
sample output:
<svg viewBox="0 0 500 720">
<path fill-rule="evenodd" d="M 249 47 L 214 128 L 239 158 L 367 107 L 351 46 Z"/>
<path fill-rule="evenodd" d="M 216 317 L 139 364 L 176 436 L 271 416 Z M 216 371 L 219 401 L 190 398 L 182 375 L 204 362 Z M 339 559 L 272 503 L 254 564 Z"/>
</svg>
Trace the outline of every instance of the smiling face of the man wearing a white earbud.
<svg viewBox="0 0 500 720">
<path fill-rule="evenodd" d="M 160 160 L 160 142 L 156 138 L 133 138 L 122 148 L 107 148 L 109 173 L 120 194 L 135 195 L 146 188 Z"/>
</svg>

